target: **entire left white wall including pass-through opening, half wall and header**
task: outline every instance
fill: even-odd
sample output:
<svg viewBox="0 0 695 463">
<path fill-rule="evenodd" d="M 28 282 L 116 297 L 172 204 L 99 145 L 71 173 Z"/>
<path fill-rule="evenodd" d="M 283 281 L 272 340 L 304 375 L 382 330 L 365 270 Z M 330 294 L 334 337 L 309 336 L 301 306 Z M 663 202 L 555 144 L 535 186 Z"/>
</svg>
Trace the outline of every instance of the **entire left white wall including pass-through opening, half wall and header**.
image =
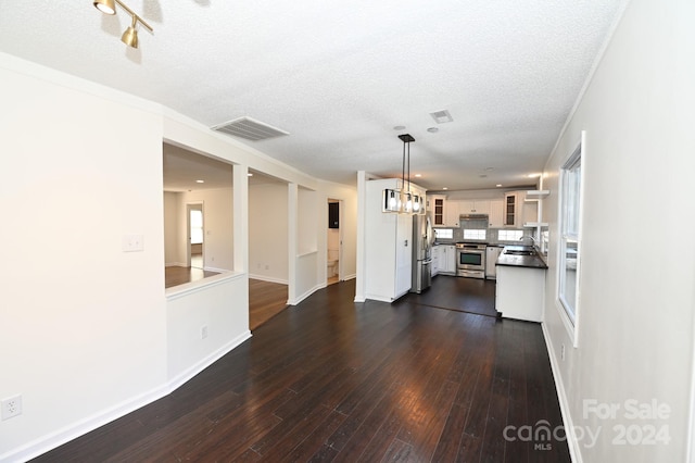
<svg viewBox="0 0 695 463">
<path fill-rule="evenodd" d="M 0 399 L 23 398 L 22 415 L 0 422 L 2 462 L 168 393 L 249 336 L 248 168 L 326 197 L 341 191 L 356 211 L 353 188 L 325 186 L 180 114 L 5 53 L 0 101 L 0 205 L 16 218 L 0 227 L 15 245 L 0 268 L 0 323 L 12 327 L 0 336 Z M 163 141 L 236 164 L 235 272 L 214 285 L 164 289 Z M 213 224 L 213 236 L 220 229 L 228 225 Z M 123 252 L 126 235 L 141 235 L 144 250 Z M 315 261 L 299 287 L 325 284 L 325 260 Z"/>
</svg>

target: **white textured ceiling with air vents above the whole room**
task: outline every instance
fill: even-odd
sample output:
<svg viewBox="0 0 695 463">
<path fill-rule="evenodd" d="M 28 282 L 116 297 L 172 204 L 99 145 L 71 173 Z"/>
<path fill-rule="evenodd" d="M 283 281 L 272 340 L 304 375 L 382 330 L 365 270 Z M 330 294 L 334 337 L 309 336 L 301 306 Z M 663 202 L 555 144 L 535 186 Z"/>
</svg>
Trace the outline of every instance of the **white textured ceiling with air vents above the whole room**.
<svg viewBox="0 0 695 463">
<path fill-rule="evenodd" d="M 437 190 L 529 184 L 624 0 L 127 0 L 154 27 L 138 50 L 91 3 L 1 0 L 0 51 L 211 127 L 253 117 L 290 135 L 249 145 L 343 184 L 400 176 L 407 132 Z"/>
</svg>

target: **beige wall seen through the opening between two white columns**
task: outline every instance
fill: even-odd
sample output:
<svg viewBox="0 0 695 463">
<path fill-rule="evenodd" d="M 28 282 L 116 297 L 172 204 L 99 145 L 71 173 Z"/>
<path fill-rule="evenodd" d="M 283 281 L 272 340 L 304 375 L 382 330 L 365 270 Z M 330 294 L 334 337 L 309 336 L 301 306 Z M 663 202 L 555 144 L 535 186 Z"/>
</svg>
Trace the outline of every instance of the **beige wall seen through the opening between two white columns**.
<svg viewBox="0 0 695 463">
<path fill-rule="evenodd" d="M 250 185 L 249 275 L 288 284 L 288 239 L 287 185 Z"/>
</svg>

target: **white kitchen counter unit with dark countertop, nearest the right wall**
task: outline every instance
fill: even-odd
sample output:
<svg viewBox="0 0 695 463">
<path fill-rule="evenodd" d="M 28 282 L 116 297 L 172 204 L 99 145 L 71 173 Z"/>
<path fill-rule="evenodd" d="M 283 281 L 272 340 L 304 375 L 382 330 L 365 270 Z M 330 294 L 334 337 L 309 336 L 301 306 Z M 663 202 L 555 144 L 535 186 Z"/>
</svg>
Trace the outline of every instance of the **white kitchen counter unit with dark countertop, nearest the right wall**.
<svg viewBox="0 0 695 463">
<path fill-rule="evenodd" d="M 496 310 L 505 318 L 542 322 L 547 264 L 528 246 L 507 246 L 496 262 Z"/>
</svg>

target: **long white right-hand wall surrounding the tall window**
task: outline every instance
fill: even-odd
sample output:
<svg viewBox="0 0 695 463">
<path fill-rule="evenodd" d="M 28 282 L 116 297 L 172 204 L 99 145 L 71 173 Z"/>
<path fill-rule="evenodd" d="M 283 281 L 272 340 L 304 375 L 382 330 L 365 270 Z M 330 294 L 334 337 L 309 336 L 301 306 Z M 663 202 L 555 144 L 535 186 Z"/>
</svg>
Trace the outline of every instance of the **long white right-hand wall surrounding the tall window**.
<svg viewBox="0 0 695 463">
<path fill-rule="evenodd" d="M 577 461 L 686 460 L 695 309 L 694 23 L 692 1 L 632 1 L 545 167 L 545 329 L 569 424 L 599 433 L 593 446 L 587 438 L 577 442 Z M 581 130 L 581 281 L 572 348 L 556 290 L 558 172 Z M 619 406 L 615 420 L 589 412 L 587 400 Z M 647 411 L 654 400 L 668 406 L 668 416 L 630 420 L 627 400 L 649 404 Z M 633 437 L 666 426 L 671 440 L 617 445 L 620 428 L 614 426 Z"/>
</svg>

